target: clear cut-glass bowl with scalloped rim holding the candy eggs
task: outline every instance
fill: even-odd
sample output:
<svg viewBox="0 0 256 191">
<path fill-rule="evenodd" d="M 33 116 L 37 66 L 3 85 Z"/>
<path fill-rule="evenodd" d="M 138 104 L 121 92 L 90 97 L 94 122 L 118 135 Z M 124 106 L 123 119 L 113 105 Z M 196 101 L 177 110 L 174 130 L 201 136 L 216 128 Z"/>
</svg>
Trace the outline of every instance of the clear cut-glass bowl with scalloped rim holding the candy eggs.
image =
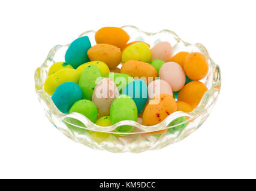
<svg viewBox="0 0 256 191">
<path fill-rule="evenodd" d="M 221 73 L 219 66 L 210 58 L 206 48 L 200 43 L 189 44 L 183 41 L 171 30 L 161 30 L 156 33 L 143 32 L 134 26 L 123 26 L 130 36 L 129 42 L 145 41 L 152 47 L 158 42 L 168 41 L 173 47 L 173 55 L 180 51 L 200 52 L 209 61 L 209 73 L 202 79 L 208 90 L 200 104 L 190 113 L 174 112 L 160 124 L 150 127 L 134 121 L 121 121 L 110 127 L 100 127 L 80 113 L 64 114 L 60 112 L 49 94 L 44 89 L 49 67 L 58 61 L 64 61 L 65 52 L 70 44 L 56 45 L 50 50 L 46 60 L 35 71 L 35 90 L 43 106 L 46 117 L 63 134 L 72 140 L 85 144 L 93 149 L 108 150 L 109 152 L 140 153 L 146 150 L 161 149 L 176 143 L 197 130 L 210 114 L 221 88 Z M 96 44 L 95 31 L 89 30 L 80 36 L 88 36 L 92 46 Z M 79 37 L 80 37 L 79 36 Z M 121 67 L 121 64 L 119 65 Z M 132 133 L 116 133 L 115 128 L 121 125 L 134 127 Z"/>
</svg>

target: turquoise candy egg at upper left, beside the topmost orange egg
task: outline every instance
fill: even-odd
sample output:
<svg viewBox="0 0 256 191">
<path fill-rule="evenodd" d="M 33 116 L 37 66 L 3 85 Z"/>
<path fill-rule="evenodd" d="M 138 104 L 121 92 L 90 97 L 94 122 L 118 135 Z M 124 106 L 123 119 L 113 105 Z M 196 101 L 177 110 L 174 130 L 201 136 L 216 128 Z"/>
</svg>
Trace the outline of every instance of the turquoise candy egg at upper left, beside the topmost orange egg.
<svg viewBox="0 0 256 191">
<path fill-rule="evenodd" d="M 65 62 L 70 64 L 76 69 L 81 64 L 89 60 L 87 51 L 91 48 L 91 42 L 88 36 L 82 36 L 71 42 L 65 54 Z"/>
</svg>

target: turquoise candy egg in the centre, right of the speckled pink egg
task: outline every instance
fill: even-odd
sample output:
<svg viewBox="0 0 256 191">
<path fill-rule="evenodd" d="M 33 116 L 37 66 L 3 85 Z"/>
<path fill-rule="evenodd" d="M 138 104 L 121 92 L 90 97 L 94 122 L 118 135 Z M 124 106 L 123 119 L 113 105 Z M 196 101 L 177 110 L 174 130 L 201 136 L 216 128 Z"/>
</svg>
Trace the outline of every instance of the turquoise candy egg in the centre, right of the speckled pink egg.
<svg viewBox="0 0 256 191">
<path fill-rule="evenodd" d="M 138 114 L 140 114 L 147 102 L 147 85 L 143 79 L 137 79 L 127 85 L 122 94 L 125 94 L 134 100 Z"/>
</svg>

